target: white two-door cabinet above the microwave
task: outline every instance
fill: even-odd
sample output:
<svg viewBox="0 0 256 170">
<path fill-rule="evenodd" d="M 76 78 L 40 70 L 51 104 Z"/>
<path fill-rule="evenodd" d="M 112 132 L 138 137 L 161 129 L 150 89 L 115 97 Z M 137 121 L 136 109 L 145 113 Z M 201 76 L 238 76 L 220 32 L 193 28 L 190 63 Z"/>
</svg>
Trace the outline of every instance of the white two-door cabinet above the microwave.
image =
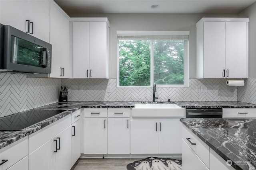
<svg viewBox="0 0 256 170">
<path fill-rule="evenodd" d="M 28 21 L 30 24 L 28 25 Z M 50 42 L 50 2 L 46 0 L 1 0 L 0 23 Z"/>
</svg>

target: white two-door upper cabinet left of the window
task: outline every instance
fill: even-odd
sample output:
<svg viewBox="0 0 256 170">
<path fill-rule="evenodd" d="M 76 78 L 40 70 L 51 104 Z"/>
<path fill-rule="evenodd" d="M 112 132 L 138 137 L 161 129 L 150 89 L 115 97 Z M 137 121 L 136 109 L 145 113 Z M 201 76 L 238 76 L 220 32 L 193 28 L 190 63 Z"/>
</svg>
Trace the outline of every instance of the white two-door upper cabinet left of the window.
<svg viewBox="0 0 256 170">
<path fill-rule="evenodd" d="M 108 19 L 71 19 L 73 78 L 109 78 Z"/>
</svg>

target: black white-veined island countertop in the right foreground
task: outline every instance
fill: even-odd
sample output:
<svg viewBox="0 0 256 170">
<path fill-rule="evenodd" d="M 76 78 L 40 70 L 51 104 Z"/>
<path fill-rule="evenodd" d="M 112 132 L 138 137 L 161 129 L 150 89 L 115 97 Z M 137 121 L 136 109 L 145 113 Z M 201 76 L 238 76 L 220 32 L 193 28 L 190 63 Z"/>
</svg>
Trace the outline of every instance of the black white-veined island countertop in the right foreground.
<svg viewBox="0 0 256 170">
<path fill-rule="evenodd" d="M 181 118 L 180 121 L 236 170 L 256 169 L 256 119 Z"/>
</svg>

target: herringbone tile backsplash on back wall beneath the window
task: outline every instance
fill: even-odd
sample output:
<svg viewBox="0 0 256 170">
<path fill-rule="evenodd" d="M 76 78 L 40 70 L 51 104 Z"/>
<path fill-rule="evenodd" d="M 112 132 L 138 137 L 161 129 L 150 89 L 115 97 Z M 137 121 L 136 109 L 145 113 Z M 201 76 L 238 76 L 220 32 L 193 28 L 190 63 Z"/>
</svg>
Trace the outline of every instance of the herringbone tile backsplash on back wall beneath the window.
<svg viewBox="0 0 256 170">
<path fill-rule="evenodd" d="M 117 88 L 116 79 L 62 79 L 68 86 L 68 101 L 151 101 L 152 88 Z M 196 92 L 196 86 L 207 92 Z M 79 92 L 82 86 L 83 92 Z M 112 92 L 107 92 L 111 86 Z M 157 101 L 237 101 L 237 88 L 226 92 L 225 79 L 190 79 L 189 88 L 157 88 Z"/>
</svg>

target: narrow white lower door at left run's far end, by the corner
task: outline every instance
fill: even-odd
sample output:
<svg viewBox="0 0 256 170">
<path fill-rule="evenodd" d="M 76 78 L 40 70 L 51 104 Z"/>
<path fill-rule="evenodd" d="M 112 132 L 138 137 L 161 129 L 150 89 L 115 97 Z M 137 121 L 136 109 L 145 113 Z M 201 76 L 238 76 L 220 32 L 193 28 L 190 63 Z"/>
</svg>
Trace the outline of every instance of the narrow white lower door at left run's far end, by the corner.
<svg viewBox="0 0 256 170">
<path fill-rule="evenodd" d="M 71 125 L 71 166 L 81 156 L 81 119 Z"/>
</svg>

